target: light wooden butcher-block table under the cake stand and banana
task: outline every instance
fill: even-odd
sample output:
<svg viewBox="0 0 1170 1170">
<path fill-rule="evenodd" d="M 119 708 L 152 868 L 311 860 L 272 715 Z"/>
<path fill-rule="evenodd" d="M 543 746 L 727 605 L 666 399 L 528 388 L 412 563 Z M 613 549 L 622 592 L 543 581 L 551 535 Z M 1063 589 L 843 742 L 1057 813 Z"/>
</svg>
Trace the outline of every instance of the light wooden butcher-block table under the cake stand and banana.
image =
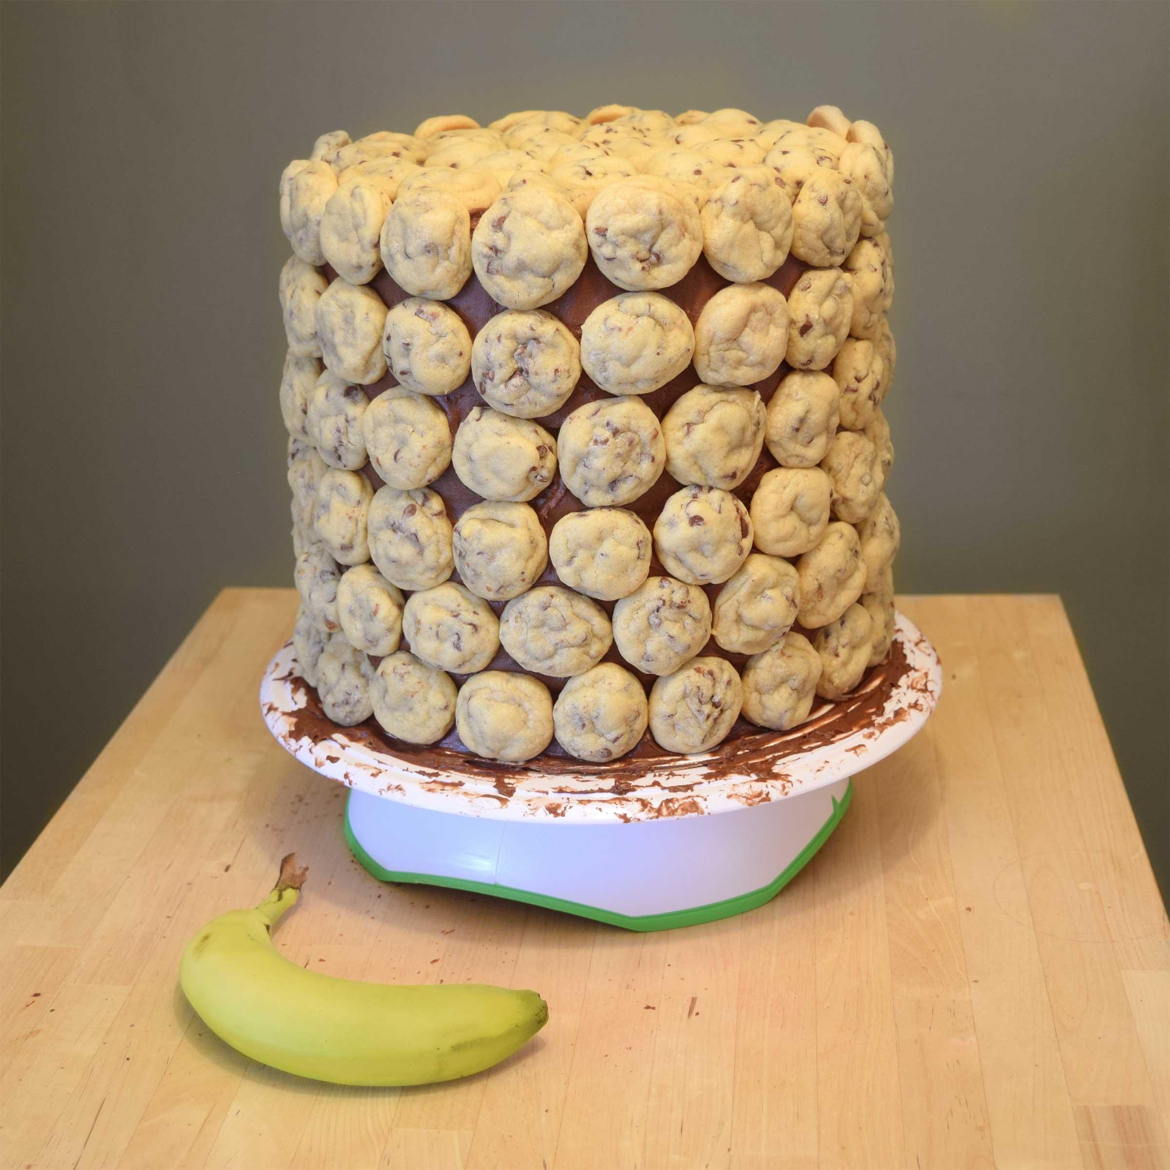
<svg viewBox="0 0 1170 1170">
<path fill-rule="evenodd" d="M 638 935 L 359 868 L 260 721 L 295 594 L 225 591 L 0 890 L 2 1165 L 1170 1165 L 1166 918 L 1060 601 L 902 607 L 927 730 L 773 902 Z M 549 1026 L 406 1090 L 238 1055 L 179 952 L 291 849 L 296 962 L 532 986 Z"/>
</svg>

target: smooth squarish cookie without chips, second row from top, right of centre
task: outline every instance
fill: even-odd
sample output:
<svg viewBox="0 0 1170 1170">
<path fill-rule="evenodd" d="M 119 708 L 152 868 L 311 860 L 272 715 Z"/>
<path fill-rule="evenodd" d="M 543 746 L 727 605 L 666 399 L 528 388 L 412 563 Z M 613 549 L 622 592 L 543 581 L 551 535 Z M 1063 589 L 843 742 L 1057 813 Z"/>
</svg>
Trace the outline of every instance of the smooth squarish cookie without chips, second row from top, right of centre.
<svg viewBox="0 0 1170 1170">
<path fill-rule="evenodd" d="M 695 323 L 695 370 L 706 383 L 750 386 L 776 373 L 789 344 L 784 295 L 770 284 L 729 284 Z"/>
</svg>

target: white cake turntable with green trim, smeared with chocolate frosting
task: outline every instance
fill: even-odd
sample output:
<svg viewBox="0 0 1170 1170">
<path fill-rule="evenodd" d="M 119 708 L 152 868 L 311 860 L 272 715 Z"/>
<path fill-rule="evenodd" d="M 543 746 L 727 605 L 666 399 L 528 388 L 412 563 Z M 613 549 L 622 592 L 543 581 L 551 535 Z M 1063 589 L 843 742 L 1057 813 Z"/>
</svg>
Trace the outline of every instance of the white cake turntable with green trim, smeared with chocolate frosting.
<svg viewBox="0 0 1170 1170">
<path fill-rule="evenodd" d="M 264 672 L 269 730 L 350 789 L 345 834 L 377 878 L 476 890 L 632 930 L 739 914 L 773 897 L 828 838 L 851 777 L 896 751 L 938 701 L 934 647 L 901 613 L 862 688 L 794 731 L 649 763 L 427 763 L 330 723 L 292 644 Z"/>
</svg>

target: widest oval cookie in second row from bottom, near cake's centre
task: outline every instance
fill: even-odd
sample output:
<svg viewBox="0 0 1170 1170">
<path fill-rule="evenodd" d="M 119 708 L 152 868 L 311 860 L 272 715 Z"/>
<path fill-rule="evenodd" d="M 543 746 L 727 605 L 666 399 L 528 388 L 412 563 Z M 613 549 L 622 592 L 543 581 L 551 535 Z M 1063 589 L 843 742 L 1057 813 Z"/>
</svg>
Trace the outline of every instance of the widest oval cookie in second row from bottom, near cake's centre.
<svg viewBox="0 0 1170 1170">
<path fill-rule="evenodd" d="M 567 679 L 600 662 L 613 631 L 597 601 L 559 585 L 538 585 L 504 606 L 500 641 L 525 670 Z"/>
</svg>

